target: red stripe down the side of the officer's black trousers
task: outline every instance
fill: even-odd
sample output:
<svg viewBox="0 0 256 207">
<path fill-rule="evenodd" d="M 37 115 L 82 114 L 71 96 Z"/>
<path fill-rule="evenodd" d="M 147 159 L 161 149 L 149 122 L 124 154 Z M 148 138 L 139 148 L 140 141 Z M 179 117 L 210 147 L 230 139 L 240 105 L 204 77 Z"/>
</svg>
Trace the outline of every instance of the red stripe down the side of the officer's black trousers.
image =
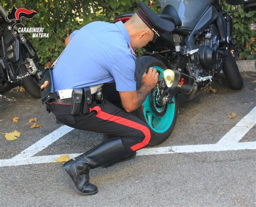
<svg viewBox="0 0 256 207">
<path fill-rule="evenodd" d="M 112 115 L 112 114 L 103 112 L 99 106 L 90 108 L 90 112 L 93 110 L 95 110 L 97 112 L 96 117 L 98 117 L 100 119 L 116 122 L 116 123 L 119 123 L 120 125 L 131 127 L 133 129 L 138 129 L 138 130 L 140 130 L 140 132 L 142 132 L 145 135 L 144 140 L 140 143 L 134 144 L 131 147 L 131 150 L 136 151 L 138 149 L 141 149 L 141 148 L 147 146 L 147 144 L 149 144 L 150 139 L 151 139 L 151 134 L 150 134 L 149 128 L 145 127 L 144 125 L 140 125 L 140 123 L 131 121 L 129 119 L 125 119 L 120 116 L 116 116 L 116 115 Z"/>
</svg>

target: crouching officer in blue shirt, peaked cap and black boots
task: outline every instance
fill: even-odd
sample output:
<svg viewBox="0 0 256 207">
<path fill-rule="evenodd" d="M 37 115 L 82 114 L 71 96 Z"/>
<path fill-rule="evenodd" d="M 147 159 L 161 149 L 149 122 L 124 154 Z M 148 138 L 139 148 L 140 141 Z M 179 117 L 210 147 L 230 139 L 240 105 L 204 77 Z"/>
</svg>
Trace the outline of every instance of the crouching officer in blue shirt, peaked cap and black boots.
<svg viewBox="0 0 256 207">
<path fill-rule="evenodd" d="M 136 90 L 133 50 L 152 41 L 170 22 L 159 19 L 145 4 L 139 6 L 125 24 L 93 22 L 72 32 L 52 70 L 57 95 L 47 105 L 57 120 L 114 137 L 63 165 L 63 171 L 83 195 L 98 192 L 96 185 L 89 182 L 90 169 L 126 160 L 151 139 L 146 123 L 130 112 L 142 106 L 157 84 L 158 73 L 149 68 Z M 122 102 L 119 107 L 102 91 L 102 84 L 113 81 Z"/>
</svg>

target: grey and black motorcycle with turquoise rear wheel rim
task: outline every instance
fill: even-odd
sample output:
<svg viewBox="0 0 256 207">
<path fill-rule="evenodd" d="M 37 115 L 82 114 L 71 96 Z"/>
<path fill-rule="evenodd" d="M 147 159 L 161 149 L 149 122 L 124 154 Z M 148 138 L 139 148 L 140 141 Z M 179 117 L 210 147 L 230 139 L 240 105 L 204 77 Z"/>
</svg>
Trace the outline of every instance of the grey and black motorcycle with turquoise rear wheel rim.
<svg viewBox="0 0 256 207">
<path fill-rule="evenodd" d="M 169 20 L 175 27 L 145 46 L 146 52 L 136 60 L 134 75 L 138 89 L 147 68 L 156 68 L 159 73 L 158 84 L 135 112 L 149 125 L 151 146 L 165 141 L 172 133 L 179 100 L 191 100 L 206 91 L 221 70 L 232 89 L 243 85 L 235 62 L 238 51 L 229 15 L 235 11 L 222 10 L 219 1 L 214 0 L 158 2 L 161 6 L 158 17 Z M 247 11 L 255 10 L 256 1 L 226 2 L 244 4 Z M 132 15 L 124 13 L 115 21 L 125 23 Z"/>
</svg>

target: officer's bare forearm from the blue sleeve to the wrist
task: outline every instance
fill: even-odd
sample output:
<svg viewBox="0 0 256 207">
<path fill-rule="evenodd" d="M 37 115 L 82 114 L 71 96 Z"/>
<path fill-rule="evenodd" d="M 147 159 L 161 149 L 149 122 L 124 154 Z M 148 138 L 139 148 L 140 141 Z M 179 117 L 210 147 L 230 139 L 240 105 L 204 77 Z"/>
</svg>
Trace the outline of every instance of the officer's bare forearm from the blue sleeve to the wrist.
<svg viewBox="0 0 256 207">
<path fill-rule="evenodd" d="M 142 106 L 143 101 L 150 91 L 150 85 L 144 83 L 137 91 L 119 92 L 125 111 L 132 112 Z"/>
</svg>

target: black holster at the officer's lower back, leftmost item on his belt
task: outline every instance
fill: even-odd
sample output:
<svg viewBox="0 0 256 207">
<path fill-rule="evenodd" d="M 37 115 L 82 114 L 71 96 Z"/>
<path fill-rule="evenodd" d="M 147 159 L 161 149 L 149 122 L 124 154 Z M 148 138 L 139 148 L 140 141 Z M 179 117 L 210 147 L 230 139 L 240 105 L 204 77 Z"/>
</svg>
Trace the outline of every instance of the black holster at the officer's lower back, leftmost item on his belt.
<svg viewBox="0 0 256 207">
<path fill-rule="evenodd" d="M 41 100 L 43 103 L 46 103 L 51 99 L 58 99 L 53 85 L 52 68 L 45 69 L 45 71 L 43 71 L 43 78 L 40 80 L 40 89 Z"/>
</svg>

